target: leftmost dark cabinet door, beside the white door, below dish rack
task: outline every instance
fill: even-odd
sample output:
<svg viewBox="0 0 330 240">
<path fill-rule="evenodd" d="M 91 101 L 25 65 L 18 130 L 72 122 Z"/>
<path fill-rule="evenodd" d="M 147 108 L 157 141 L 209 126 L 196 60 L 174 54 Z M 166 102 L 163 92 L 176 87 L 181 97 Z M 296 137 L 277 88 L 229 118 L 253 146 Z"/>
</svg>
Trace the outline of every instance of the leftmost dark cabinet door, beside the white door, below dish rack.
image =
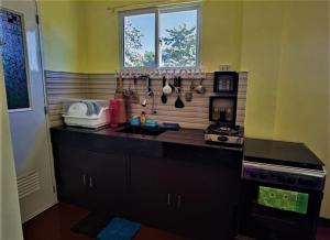
<svg viewBox="0 0 330 240">
<path fill-rule="evenodd" d="M 88 152 L 75 148 L 56 146 L 54 153 L 59 200 L 88 208 L 88 173 L 85 167 Z"/>
</svg>

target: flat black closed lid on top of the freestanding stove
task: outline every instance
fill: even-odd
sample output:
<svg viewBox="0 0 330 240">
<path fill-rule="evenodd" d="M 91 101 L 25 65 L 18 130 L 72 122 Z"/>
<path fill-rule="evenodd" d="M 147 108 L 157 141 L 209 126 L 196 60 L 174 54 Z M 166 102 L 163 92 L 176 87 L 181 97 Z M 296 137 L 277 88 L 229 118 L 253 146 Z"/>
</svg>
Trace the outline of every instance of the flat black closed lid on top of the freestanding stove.
<svg viewBox="0 0 330 240">
<path fill-rule="evenodd" d="M 261 139 L 245 139 L 244 160 L 312 170 L 323 166 L 304 143 Z"/>
</svg>

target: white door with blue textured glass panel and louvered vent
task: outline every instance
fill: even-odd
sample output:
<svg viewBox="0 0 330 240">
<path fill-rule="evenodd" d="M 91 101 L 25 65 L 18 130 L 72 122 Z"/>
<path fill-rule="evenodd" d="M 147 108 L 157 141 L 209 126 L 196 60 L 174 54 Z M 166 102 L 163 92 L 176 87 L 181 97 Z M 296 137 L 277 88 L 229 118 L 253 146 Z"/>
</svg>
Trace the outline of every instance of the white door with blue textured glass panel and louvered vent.
<svg viewBox="0 0 330 240">
<path fill-rule="evenodd" d="M 0 44 L 22 221 L 56 203 L 36 3 L 2 1 Z"/>
</svg>

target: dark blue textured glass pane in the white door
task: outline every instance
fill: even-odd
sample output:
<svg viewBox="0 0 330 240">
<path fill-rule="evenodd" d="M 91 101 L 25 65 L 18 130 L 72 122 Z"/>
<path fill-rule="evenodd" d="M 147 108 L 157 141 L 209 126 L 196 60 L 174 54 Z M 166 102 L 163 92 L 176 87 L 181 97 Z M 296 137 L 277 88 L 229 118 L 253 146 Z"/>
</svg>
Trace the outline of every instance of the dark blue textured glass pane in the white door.
<svg viewBox="0 0 330 240">
<path fill-rule="evenodd" d="M 30 108 L 21 15 L 0 9 L 0 53 L 9 110 Z"/>
</svg>

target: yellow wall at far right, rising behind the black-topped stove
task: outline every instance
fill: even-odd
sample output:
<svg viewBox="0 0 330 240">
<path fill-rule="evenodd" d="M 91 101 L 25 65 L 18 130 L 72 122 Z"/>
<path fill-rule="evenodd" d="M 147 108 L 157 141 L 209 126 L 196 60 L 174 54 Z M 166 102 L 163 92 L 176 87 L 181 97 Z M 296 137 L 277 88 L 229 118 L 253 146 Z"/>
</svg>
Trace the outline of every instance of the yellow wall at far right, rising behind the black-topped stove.
<svg viewBox="0 0 330 240">
<path fill-rule="evenodd" d="M 285 3 L 275 138 L 329 157 L 329 3 Z M 330 182 L 322 212 L 330 216 Z"/>
</svg>

